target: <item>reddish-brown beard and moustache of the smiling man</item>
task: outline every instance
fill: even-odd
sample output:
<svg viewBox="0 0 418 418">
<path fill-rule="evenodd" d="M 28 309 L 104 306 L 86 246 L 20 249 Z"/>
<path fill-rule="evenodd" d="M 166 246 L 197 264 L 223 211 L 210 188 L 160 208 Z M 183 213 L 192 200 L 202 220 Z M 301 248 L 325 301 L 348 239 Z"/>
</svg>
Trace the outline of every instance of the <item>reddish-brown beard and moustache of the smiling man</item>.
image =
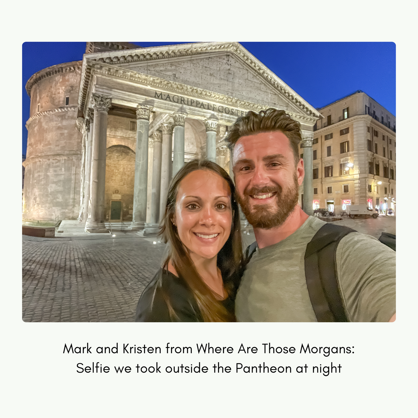
<svg viewBox="0 0 418 418">
<path fill-rule="evenodd" d="M 250 195 L 267 194 L 272 192 L 277 192 L 275 195 L 275 204 L 277 205 L 276 209 L 273 209 L 269 204 L 254 205 L 251 209 Z M 298 204 L 298 177 L 296 176 L 296 173 L 293 175 L 293 184 L 284 192 L 283 189 L 277 185 L 276 187 L 265 186 L 262 189 L 257 189 L 255 187 L 252 187 L 249 190 L 245 189 L 243 196 L 240 196 L 236 190 L 235 194 L 235 198 L 241 205 L 242 212 L 244 212 L 245 217 L 248 222 L 250 222 L 252 227 L 262 229 L 278 227 L 285 222 Z"/>
</svg>

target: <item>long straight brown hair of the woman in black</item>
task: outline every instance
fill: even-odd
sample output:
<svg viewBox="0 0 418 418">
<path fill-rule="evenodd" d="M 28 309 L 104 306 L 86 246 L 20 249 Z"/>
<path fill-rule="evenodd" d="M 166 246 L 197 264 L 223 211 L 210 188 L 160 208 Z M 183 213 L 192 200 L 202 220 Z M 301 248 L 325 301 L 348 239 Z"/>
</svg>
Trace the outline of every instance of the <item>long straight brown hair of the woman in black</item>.
<svg viewBox="0 0 418 418">
<path fill-rule="evenodd" d="M 176 211 L 176 198 L 180 182 L 189 173 L 196 170 L 209 170 L 221 176 L 229 186 L 231 192 L 232 227 L 227 242 L 218 253 L 217 266 L 222 273 L 224 288 L 231 294 L 234 291 L 237 271 L 242 264 L 241 225 L 238 204 L 234 199 L 234 183 L 228 173 L 216 163 L 207 160 L 192 160 L 185 164 L 171 181 L 167 195 L 166 213 L 161 221 L 160 234 L 164 242 L 169 244 L 169 252 L 164 267 L 171 260 L 178 275 L 189 285 L 191 292 L 199 306 L 201 316 L 205 322 L 231 322 L 235 321 L 234 314 L 231 314 L 218 301 L 213 291 L 204 283 L 189 256 L 189 250 L 181 242 L 177 227 L 171 220 Z M 168 296 L 168 295 L 167 295 Z M 169 301 L 167 301 L 169 302 Z M 169 304 L 169 303 L 168 303 Z"/>
</svg>

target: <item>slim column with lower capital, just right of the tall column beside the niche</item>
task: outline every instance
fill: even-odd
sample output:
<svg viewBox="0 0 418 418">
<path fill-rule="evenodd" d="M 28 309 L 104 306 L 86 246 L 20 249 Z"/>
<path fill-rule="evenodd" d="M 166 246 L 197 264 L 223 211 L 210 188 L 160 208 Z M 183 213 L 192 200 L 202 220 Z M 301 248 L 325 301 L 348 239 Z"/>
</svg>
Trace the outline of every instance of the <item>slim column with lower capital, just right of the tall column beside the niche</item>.
<svg viewBox="0 0 418 418">
<path fill-rule="evenodd" d="M 151 186 L 150 222 L 145 223 L 144 235 L 158 233 L 158 212 L 160 210 L 160 184 L 161 184 L 161 145 L 163 133 L 153 133 L 153 174 Z"/>
</svg>

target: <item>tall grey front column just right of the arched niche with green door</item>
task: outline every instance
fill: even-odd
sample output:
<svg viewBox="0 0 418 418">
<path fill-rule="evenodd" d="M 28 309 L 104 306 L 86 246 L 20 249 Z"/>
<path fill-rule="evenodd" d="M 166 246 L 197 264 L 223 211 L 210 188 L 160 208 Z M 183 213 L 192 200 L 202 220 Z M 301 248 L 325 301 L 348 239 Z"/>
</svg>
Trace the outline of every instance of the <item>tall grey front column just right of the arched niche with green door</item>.
<svg viewBox="0 0 418 418">
<path fill-rule="evenodd" d="M 152 107 L 138 104 L 136 107 L 135 178 L 133 188 L 133 215 L 130 229 L 144 229 L 147 216 L 148 182 L 148 129 Z"/>
</svg>

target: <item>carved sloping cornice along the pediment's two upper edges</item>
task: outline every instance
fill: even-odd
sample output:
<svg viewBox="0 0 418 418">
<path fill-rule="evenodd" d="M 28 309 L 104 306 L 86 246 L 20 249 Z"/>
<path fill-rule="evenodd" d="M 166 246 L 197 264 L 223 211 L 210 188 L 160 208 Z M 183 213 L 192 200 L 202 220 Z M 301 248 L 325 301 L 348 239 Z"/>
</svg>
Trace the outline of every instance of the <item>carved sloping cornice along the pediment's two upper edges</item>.
<svg viewBox="0 0 418 418">
<path fill-rule="evenodd" d="M 250 67 L 265 82 L 270 84 L 286 101 L 290 102 L 305 115 L 319 119 L 323 117 L 299 94 L 291 89 L 282 79 L 266 67 L 261 61 L 253 56 L 238 42 L 198 42 L 178 45 L 153 46 L 150 48 L 138 48 L 119 51 L 100 52 L 86 54 L 84 61 L 97 61 L 112 66 L 131 66 L 136 62 L 147 62 L 161 59 L 173 59 L 185 56 L 196 56 L 202 54 L 214 54 L 218 52 L 229 52 L 234 54 L 240 61 Z"/>
</svg>

